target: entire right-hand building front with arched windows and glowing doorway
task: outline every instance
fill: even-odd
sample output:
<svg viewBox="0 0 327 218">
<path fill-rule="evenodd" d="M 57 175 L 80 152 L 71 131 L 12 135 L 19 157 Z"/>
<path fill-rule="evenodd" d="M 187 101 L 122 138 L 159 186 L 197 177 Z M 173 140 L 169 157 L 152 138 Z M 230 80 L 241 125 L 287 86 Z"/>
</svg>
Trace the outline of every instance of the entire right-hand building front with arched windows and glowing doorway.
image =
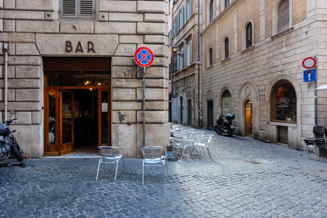
<svg viewBox="0 0 327 218">
<path fill-rule="evenodd" d="M 204 126 L 233 113 L 236 134 L 303 149 L 315 119 L 327 124 L 327 92 L 315 106 L 302 67 L 317 58 L 317 85 L 327 83 L 326 13 L 326 1 L 204 1 Z"/>
</svg>

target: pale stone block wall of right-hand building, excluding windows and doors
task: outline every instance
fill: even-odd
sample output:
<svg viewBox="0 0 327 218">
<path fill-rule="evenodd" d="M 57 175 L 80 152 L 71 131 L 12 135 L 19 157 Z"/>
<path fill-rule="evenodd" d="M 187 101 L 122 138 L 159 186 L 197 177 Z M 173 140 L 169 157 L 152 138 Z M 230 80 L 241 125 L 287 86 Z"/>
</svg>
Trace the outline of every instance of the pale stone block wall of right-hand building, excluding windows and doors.
<svg viewBox="0 0 327 218">
<path fill-rule="evenodd" d="M 229 10 L 232 7 L 236 7 L 237 2 Z M 245 3 L 248 2 L 250 1 L 245 1 Z M 268 24 L 271 25 L 272 22 L 271 7 L 273 7 L 274 2 L 260 1 L 266 7 L 260 7 L 253 11 L 253 13 L 260 14 L 260 33 L 254 29 L 254 34 L 260 34 L 260 41 L 254 41 L 255 43 L 249 49 L 231 53 L 230 59 L 214 60 L 213 67 L 207 68 L 202 72 L 202 119 L 204 126 L 206 126 L 207 119 L 206 108 L 204 107 L 206 105 L 206 96 L 215 96 L 215 117 L 221 108 L 221 92 L 223 89 L 229 89 L 232 93 L 233 111 L 235 114 L 233 123 L 237 126 L 237 134 L 244 135 L 243 104 L 245 99 L 251 99 L 253 105 L 253 138 L 276 143 L 277 126 L 287 126 L 289 146 L 302 149 L 302 139 L 312 136 L 315 109 L 314 83 L 303 83 L 304 68 L 301 66 L 301 63 L 306 57 L 317 56 L 318 86 L 327 83 L 325 67 L 326 24 L 325 21 L 317 21 L 319 14 L 325 13 L 326 6 L 318 6 L 321 8 L 321 11 L 313 15 L 316 6 L 311 1 L 305 1 L 305 4 L 300 0 L 293 0 L 292 2 L 294 13 L 299 13 L 298 7 L 301 6 L 301 11 L 304 10 L 301 13 L 307 15 L 305 18 L 299 15 L 302 17 L 300 20 L 293 20 L 293 29 L 271 37 L 271 27 Z M 240 13 L 246 13 L 246 11 L 240 10 Z M 235 16 L 232 16 L 231 13 L 225 16 L 224 12 L 219 16 L 221 18 L 214 21 L 212 25 L 216 26 L 220 37 L 232 31 L 232 27 L 235 27 Z M 244 17 L 245 19 L 245 16 L 240 14 L 237 14 L 236 17 Z M 220 23 L 226 22 L 224 21 L 225 19 L 228 20 L 229 25 L 226 28 L 222 28 Z M 244 19 L 242 20 L 244 21 Z M 243 22 L 237 23 L 238 28 L 243 28 Z M 204 48 L 209 47 L 209 44 L 215 44 L 211 40 L 215 38 L 212 36 L 213 34 L 217 35 L 210 26 L 203 31 L 202 43 Z M 255 35 L 254 38 L 256 37 Z M 232 42 L 234 41 L 230 40 L 230 43 Z M 221 54 L 220 47 L 216 50 L 218 54 Z M 230 48 L 232 47 L 233 45 L 230 44 Z M 206 51 L 203 52 L 204 59 L 206 59 L 205 56 Z M 282 79 L 289 80 L 297 92 L 297 124 L 270 121 L 270 92 L 274 84 Z M 318 124 L 327 125 L 325 118 L 325 95 L 326 91 L 318 91 Z"/>
</svg>

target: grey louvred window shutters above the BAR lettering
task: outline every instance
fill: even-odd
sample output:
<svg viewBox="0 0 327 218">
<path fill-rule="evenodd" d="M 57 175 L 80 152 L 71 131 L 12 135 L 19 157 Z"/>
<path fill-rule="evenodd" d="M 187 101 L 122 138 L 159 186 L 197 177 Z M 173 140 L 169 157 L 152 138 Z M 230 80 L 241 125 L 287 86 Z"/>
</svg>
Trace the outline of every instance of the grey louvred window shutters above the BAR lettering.
<svg viewBox="0 0 327 218">
<path fill-rule="evenodd" d="M 60 17 L 94 18 L 95 0 L 61 0 Z"/>
</svg>

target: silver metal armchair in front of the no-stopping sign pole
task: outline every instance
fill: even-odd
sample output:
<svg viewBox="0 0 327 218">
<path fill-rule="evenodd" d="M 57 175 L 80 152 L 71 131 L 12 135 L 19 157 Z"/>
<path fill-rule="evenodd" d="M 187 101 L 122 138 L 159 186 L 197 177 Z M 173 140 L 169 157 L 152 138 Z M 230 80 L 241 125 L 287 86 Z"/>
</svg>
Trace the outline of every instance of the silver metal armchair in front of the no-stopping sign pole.
<svg viewBox="0 0 327 218">
<path fill-rule="evenodd" d="M 162 149 L 165 149 L 165 155 L 162 154 Z M 143 153 L 143 163 L 142 163 L 142 184 L 144 184 L 144 168 L 146 171 L 146 167 L 153 167 L 153 166 L 163 166 L 163 179 L 166 183 L 166 176 L 164 172 L 164 165 L 166 164 L 167 167 L 167 176 L 168 174 L 168 162 L 167 162 L 167 147 L 143 147 L 141 148 Z M 161 165 L 152 165 L 155 163 L 160 163 Z"/>
</svg>

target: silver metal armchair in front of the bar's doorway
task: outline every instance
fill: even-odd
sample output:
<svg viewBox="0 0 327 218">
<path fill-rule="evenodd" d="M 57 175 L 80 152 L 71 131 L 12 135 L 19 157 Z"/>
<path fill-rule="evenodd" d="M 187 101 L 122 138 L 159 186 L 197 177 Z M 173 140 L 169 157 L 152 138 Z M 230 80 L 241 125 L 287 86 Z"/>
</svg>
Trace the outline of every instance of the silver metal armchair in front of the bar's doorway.
<svg viewBox="0 0 327 218">
<path fill-rule="evenodd" d="M 96 180 L 98 179 L 98 175 L 99 175 L 100 163 L 113 163 L 116 164 L 116 172 L 115 172 L 115 179 L 114 179 L 114 181 L 116 181 L 118 161 L 120 159 L 123 159 L 123 168 L 125 173 L 124 149 L 111 147 L 111 146 L 99 146 L 98 148 L 100 148 L 101 158 L 99 160 L 98 171 L 96 172 Z M 103 165 L 103 171 L 104 171 L 104 165 Z"/>
</svg>

